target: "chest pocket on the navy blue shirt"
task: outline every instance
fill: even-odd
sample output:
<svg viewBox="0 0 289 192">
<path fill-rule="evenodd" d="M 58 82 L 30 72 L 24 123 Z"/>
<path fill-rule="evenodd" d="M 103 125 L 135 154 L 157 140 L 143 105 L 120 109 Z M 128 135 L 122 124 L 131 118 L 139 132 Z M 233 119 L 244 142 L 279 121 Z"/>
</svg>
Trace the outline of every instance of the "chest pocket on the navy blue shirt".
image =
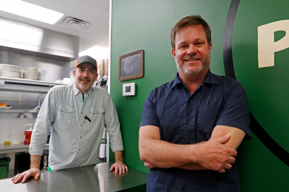
<svg viewBox="0 0 289 192">
<path fill-rule="evenodd" d="M 200 105 L 197 115 L 197 129 L 208 133 L 212 133 L 216 125 L 220 112 L 220 107 L 215 105 Z"/>
</svg>

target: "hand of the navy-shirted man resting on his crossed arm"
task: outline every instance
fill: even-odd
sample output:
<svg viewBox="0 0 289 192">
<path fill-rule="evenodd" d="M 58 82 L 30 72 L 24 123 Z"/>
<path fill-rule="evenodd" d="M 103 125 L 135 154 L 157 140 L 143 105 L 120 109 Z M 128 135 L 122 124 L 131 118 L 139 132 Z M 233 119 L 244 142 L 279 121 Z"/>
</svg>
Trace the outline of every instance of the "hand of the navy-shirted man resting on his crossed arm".
<svg viewBox="0 0 289 192">
<path fill-rule="evenodd" d="M 231 164 L 235 163 L 233 156 L 237 155 L 237 151 L 223 145 L 227 143 L 229 139 L 230 134 L 227 134 L 223 137 L 210 139 L 209 141 L 196 145 L 199 151 L 197 162 L 207 169 L 220 173 L 224 173 L 225 169 L 231 169 Z"/>
</svg>

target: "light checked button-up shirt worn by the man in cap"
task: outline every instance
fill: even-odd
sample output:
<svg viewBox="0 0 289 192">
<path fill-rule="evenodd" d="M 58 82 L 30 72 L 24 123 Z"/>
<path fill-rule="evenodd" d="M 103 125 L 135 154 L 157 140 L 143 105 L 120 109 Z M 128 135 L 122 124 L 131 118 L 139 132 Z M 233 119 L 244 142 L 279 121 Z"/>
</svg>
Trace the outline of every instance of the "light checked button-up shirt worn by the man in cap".
<svg viewBox="0 0 289 192">
<path fill-rule="evenodd" d="M 51 170 L 97 164 L 104 125 L 112 151 L 122 151 L 120 123 L 106 90 L 92 87 L 84 93 L 83 103 L 82 93 L 74 83 L 55 86 L 39 110 L 29 153 L 42 155 L 51 132 L 48 158 Z"/>
</svg>

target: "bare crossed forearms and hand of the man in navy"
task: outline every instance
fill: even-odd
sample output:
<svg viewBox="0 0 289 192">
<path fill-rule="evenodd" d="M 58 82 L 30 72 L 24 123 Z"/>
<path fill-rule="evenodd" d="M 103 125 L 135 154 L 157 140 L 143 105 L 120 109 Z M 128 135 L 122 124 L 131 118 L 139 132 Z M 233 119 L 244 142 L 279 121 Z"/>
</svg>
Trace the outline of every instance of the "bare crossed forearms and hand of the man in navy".
<svg viewBox="0 0 289 192">
<path fill-rule="evenodd" d="M 160 140 L 156 126 L 139 128 L 139 154 L 148 168 L 178 167 L 188 170 L 215 170 L 224 173 L 235 162 L 240 143 L 245 137 L 241 129 L 218 125 L 210 140 L 192 145 L 173 144 Z"/>
</svg>

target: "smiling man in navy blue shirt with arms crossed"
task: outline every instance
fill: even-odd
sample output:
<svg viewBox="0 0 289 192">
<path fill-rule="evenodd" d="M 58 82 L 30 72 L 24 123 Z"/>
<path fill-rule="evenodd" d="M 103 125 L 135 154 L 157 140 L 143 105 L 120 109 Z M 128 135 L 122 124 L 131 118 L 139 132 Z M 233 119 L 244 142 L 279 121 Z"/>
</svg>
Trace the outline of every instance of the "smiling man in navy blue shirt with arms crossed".
<svg viewBox="0 0 289 192">
<path fill-rule="evenodd" d="M 199 15 L 170 33 L 175 79 L 154 88 L 139 128 L 147 191 L 240 191 L 236 149 L 250 139 L 244 88 L 210 72 L 211 30 Z"/>
</svg>

